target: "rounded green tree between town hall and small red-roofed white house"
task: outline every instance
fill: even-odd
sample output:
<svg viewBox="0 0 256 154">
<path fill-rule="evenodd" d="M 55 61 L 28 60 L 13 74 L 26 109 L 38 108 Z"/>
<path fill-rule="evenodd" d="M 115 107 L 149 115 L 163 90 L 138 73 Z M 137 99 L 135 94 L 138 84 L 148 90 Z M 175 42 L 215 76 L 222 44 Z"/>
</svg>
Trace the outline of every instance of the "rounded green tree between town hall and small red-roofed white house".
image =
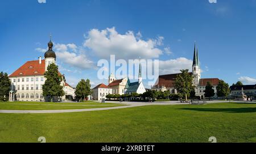
<svg viewBox="0 0 256 154">
<path fill-rule="evenodd" d="M 86 81 L 84 79 L 81 79 L 81 81 L 76 85 L 76 98 L 79 101 L 85 100 L 90 94 L 92 93 L 92 90 L 90 89 L 90 80 L 87 79 Z"/>
</svg>

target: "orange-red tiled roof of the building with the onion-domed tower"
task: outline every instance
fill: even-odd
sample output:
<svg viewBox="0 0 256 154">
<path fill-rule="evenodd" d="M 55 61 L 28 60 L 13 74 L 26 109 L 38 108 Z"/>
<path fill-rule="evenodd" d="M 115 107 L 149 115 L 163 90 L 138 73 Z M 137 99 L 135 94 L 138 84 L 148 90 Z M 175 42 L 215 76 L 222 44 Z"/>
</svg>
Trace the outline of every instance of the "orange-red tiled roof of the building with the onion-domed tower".
<svg viewBox="0 0 256 154">
<path fill-rule="evenodd" d="M 28 61 L 19 67 L 18 70 L 14 71 L 9 77 L 43 75 L 45 72 L 45 66 L 45 60 L 42 60 L 42 63 L 39 63 L 39 60 Z"/>
</svg>

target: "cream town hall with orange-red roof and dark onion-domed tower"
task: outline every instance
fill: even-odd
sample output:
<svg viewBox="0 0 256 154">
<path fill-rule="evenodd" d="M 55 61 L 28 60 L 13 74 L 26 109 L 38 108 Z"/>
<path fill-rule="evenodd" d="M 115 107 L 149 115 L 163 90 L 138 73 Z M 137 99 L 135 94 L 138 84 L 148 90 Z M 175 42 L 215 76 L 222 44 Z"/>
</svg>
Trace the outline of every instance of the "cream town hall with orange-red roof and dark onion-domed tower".
<svg viewBox="0 0 256 154">
<path fill-rule="evenodd" d="M 44 59 L 39 57 L 39 60 L 28 61 L 9 76 L 12 85 L 9 101 L 45 101 L 43 96 L 43 84 L 46 81 L 44 72 L 47 71 L 48 65 L 56 63 L 56 54 L 52 47 L 53 43 L 50 40 Z M 60 72 L 59 75 L 61 75 Z M 65 82 L 64 75 L 61 76 L 63 78 L 61 85 L 65 92 L 61 100 L 75 99 L 75 88 Z"/>
</svg>

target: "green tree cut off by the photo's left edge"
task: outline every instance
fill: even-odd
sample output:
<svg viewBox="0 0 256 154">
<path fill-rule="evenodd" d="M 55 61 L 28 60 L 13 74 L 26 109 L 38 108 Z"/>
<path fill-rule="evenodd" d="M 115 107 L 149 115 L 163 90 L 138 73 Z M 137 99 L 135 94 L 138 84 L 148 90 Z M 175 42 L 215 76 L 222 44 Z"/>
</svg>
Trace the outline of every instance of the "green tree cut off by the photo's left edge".
<svg viewBox="0 0 256 154">
<path fill-rule="evenodd" d="M 11 81 L 7 73 L 0 73 L 0 101 L 9 100 L 9 92 L 11 90 Z"/>
</svg>

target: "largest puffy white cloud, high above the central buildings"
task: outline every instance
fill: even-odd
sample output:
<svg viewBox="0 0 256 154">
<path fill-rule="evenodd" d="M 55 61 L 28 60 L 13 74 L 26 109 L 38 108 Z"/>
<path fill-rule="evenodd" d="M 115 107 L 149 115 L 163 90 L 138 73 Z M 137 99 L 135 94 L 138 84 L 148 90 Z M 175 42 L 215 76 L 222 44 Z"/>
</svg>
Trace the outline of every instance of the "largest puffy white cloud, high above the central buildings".
<svg viewBox="0 0 256 154">
<path fill-rule="evenodd" d="M 140 32 L 137 36 L 132 31 L 119 34 L 114 27 L 102 31 L 92 29 L 86 36 L 84 46 L 92 49 L 100 58 L 109 58 L 110 54 L 118 59 L 159 58 L 163 52 L 157 47 L 163 45 L 164 38 L 159 36 L 145 41 L 140 37 Z"/>
</svg>

